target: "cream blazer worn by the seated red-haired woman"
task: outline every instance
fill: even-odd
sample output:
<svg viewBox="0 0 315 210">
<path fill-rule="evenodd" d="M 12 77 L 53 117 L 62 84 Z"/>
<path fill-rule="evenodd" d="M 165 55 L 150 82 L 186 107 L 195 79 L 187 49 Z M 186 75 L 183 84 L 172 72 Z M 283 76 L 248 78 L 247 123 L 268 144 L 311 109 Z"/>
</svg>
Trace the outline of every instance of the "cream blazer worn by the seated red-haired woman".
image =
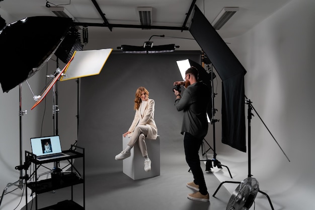
<svg viewBox="0 0 315 210">
<path fill-rule="evenodd" d="M 147 138 L 149 139 L 156 139 L 157 137 L 157 128 L 154 121 L 154 100 L 148 99 L 146 107 L 143 112 L 143 116 L 141 115 L 141 111 L 139 109 L 136 110 L 134 115 L 134 119 L 131 123 L 130 128 L 128 129 L 129 133 L 128 136 L 132 135 L 134 128 L 137 125 L 148 125 L 149 130 L 147 132 Z"/>
</svg>

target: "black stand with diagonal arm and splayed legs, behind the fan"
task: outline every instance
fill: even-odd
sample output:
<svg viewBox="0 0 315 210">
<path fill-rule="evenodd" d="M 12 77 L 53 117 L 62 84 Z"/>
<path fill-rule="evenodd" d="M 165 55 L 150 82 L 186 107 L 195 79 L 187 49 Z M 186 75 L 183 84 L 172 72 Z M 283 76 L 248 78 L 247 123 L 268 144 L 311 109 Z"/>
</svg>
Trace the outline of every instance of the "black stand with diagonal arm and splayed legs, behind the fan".
<svg viewBox="0 0 315 210">
<path fill-rule="evenodd" d="M 246 96 L 245 96 L 246 97 Z M 252 119 L 252 116 L 254 116 L 253 115 L 253 113 L 252 113 L 252 109 L 254 109 L 254 107 L 252 106 L 252 102 L 251 102 L 251 100 L 249 100 L 247 97 L 246 97 L 246 101 L 245 101 L 245 103 L 248 105 L 248 177 L 250 178 L 250 177 L 252 177 L 253 175 L 251 174 L 251 119 Z M 255 110 L 255 109 L 254 109 Z M 255 112 L 256 112 L 256 110 L 255 110 Z M 256 112 L 256 114 L 258 115 L 258 113 Z M 259 115 L 258 115 L 259 116 Z M 260 117 L 259 117 L 260 118 Z M 260 118 L 261 119 L 261 118 Z M 265 125 L 265 123 L 264 123 L 264 125 Z M 266 126 L 266 125 L 265 125 Z M 268 129 L 268 128 L 267 128 Z M 269 131 L 269 129 L 268 129 L 268 131 Z M 269 131 L 270 132 L 270 131 Z M 278 144 L 279 145 L 279 144 Z M 280 146 L 279 146 L 280 147 Z M 280 147 L 281 148 L 281 147 Z M 282 149 L 281 149 L 282 150 Z M 283 152 L 283 150 L 282 150 L 282 152 Z M 284 152 L 283 152 L 284 153 Z M 284 155 L 285 155 L 285 153 L 284 153 Z M 285 155 L 286 156 L 286 155 Z M 287 157 L 287 156 L 286 156 Z M 288 159 L 289 160 L 289 159 Z M 289 162 L 290 162 L 290 160 L 289 160 Z M 234 182 L 234 181 L 223 181 L 223 182 L 221 182 L 220 183 L 220 185 L 218 186 L 218 188 L 215 190 L 215 192 L 214 192 L 214 194 L 212 195 L 213 197 L 215 197 L 215 194 L 217 193 L 217 191 L 219 190 L 219 188 L 222 186 L 222 184 L 224 184 L 224 183 L 235 183 L 235 184 L 240 184 L 241 182 Z M 266 197 L 267 197 L 267 199 L 268 199 L 268 201 L 269 201 L 269 203 L 270 203 L 270 206 L 271 206 L 271 209 L 272 210 L 274 210 L 274 208 L 273 208 L 273 205 L 272 205 L 272 202 L 271 202 L 271 199 L 270 199 L 270 197 L 268 196 L 268 194 L 267 193 L 265 193 L 265 192 L 263 192 L 263 191 L 261 191 L 261 190 L 258 190 L 258 192 L 260 192 L 260 193 L 262 193 L 262 194 L 264 194 Z"/>
</svg>

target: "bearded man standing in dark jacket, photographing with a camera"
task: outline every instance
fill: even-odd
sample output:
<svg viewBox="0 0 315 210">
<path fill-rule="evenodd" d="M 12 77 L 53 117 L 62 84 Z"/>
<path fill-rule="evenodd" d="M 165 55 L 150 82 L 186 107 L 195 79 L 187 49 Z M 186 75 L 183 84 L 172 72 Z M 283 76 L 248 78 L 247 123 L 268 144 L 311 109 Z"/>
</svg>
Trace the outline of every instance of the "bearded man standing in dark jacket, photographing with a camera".
<svg viewBox="0 0 315 210">
<path fill-rule="evenodd" d="M 178 86 L 184 85 L 183 96 Z M 187 187 L 197 192 L 188 194 L 188 198 L 199 201 L 209 201 L 209 193 L 200 167 L 199 149 L 203 138 L 208 132 L 207 106 L 210 101 L 210 90 L 207 85 L 198 82 L 198 69 L 191 66 L 185 72 L 185 81 L 174 83 L 176 95 L 175 106 L 178 111 L 184 111 L 181 134 L 184 134 L 184 149 L 186 162 L 190 167 L 194 181 Z"/>
</svg>

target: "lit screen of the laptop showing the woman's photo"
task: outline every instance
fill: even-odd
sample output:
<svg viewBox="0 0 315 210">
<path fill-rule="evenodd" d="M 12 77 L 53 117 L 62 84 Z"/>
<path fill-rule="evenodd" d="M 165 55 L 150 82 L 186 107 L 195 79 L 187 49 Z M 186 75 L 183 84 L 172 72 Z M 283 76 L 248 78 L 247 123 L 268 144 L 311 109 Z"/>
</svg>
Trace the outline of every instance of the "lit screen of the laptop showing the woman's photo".
<svg viewBox="0 0 315 210">
<path fill-rule="evenodd" d="M 31 147 L 36 156 L 61 153 L 59 135 L 31 138 Z"/>
</svg>

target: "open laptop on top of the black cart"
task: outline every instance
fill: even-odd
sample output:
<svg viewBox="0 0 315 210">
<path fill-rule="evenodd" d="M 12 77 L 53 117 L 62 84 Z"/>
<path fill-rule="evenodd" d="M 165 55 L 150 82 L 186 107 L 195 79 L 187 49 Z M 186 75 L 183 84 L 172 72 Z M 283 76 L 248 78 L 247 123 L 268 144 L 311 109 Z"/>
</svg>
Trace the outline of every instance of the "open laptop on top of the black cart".
<svg viewBox="0 0 315 210">
<path fill-rule="evenodd" d="M 32 153 L 39 161 L 69 156 L 62 153 L 59 135 L 31 138 Z"/>
</svg>

